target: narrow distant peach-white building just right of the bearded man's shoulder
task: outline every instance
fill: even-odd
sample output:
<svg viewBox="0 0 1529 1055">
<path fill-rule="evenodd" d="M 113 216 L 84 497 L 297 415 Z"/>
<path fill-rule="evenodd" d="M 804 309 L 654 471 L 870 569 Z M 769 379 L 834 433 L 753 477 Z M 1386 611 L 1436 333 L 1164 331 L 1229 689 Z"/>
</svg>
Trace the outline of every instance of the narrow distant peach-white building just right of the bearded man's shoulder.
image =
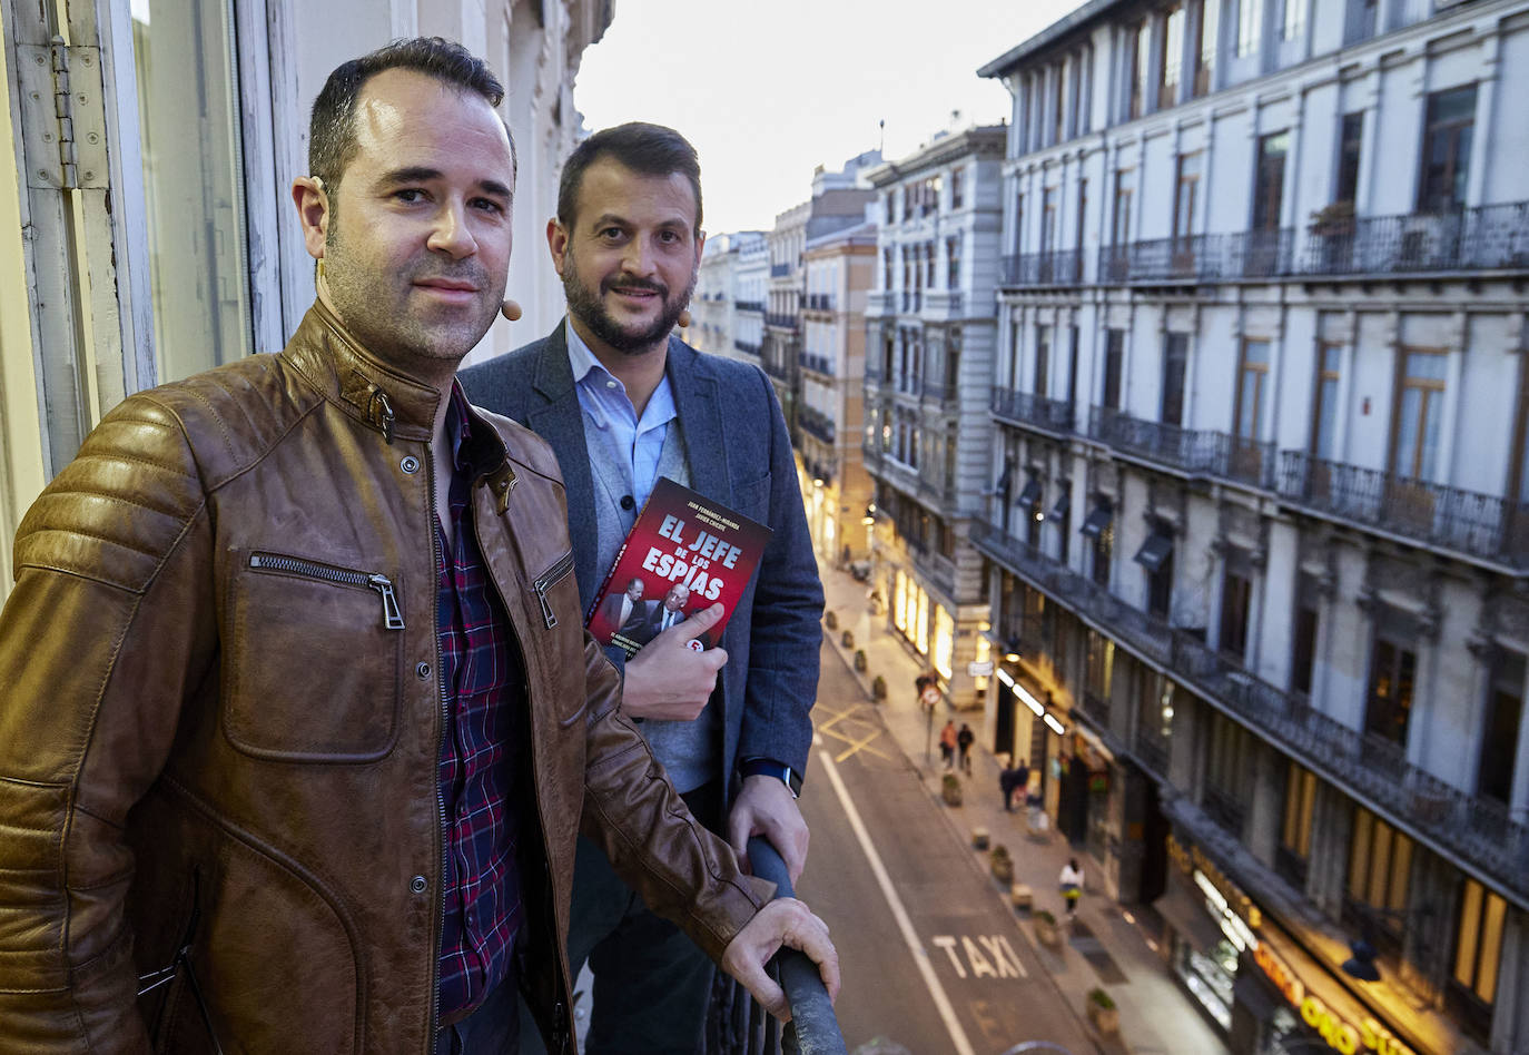
<svg viewBox="0 0 1529 1055">
<path fill-rule="evenodd" d="M 807 526 L 818 553 L 841 566 L 870 555 L 870 477 L 861 459 L 865 297 L 876 272 L 876 225 L 862 222 L 807 242 L 803 252 L 801 405 L 797 453 Z"/>
</svg>

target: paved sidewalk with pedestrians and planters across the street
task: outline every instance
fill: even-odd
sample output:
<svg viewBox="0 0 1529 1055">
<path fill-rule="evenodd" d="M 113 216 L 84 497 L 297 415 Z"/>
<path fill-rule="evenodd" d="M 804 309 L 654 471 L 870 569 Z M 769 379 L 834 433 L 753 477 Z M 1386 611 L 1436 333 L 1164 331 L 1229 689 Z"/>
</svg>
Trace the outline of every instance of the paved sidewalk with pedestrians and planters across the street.
<svg viewBox="0 0 1529 1055">
<path fill-rule="evenodd" d="M 844 665 L 853 671 L 855 648 L 844 648 L 844 630 L 855 635 L 855 647 L 865 650 L 867 671 L 855 677 L 870 696 L 870 683 L 876 674 L 887 680 L 887 699 L 876 708 L 888 734 L 919 771 L 930 795 L 945 810 L 965 842 L 971 842 L 971 829 L 985 827 L 992 844 L 1003 844 L 1014 858 L 1014 882 L 1029 884 L 1035 908 L 1050 910 L 1063 933 L 1060 948 L 1041 945 L 1035 937 L 1034 919 L 1021 913 L 1020 930 L 1052 972 L 1063 998 L 1076 1012 L 1079 1021 L 1087 1018 L 1087 994 L 1102 986 L 1119 1008 L 1121 1031 L 1113 1041 L 1092 1034 L 1104 1052 L 1130 1052 L 1131 1055 L 1226 1055 L 1228 1047 L 1216 1031 L 1190 1003 L 1190 997 L 1171 977 L 1167 962 L 1156 948 L 1156 933 L 1144 930 L 1138 916 L 1116 904 L 1098 882 L 1098 865 L 1086 852 L 1073 850 L 1055 829 L 1044 835 L 1029 835 L 1024 812 L 1015 806 L 1012 813 L 1003 812 L 1003 794 L 998 790 L 1001 769 L 992 752 L 977 743 L 971 749 L 972 775 L 962 774 L 963 801 L 960 807 L 946 807 L 939 800 L 940 774 L 943 772 L 939 745 L 933 746 L 933 761 L 925 760 L 927 717 L 914 700 L 913 679 L 925 668 L 908 647 L 893 631 L 885 628 L 885 615 L 873 616 L 867 605 L 867 586 L 856 583 L 844 572 L 820 564 L 827 610 L 838 618 L 836 630 L 824 630 L 833 642 Z M 937 711 L 934 734 L 946 717 L 980 726 L 980 713 Z M 1018 797 L 1015 797 L 1018 801 Z M 979 853 L 972 850 L 972 853 Z M 982 855 L 986 858 L 986 855 Z M 1069 856 L 1078 858 L 1086 875 L 1086 893 L 1078 907 L 1076 927 L 1066 920 L 1066 908 L 1058 893 L 1057 876 Z M 1076 1053 L 1081 1055 L 1081 1053 Z"/>
</svg>

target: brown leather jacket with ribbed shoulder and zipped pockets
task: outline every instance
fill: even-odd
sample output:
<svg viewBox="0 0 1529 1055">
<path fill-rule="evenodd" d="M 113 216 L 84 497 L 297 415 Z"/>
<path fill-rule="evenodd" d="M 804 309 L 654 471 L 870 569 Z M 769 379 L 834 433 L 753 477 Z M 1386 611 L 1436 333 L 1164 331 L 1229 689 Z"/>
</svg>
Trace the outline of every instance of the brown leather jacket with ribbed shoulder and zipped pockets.
<svg viewBox="0 0 1529 1055">
<path fill-rule="evenodd" d="M 0 615 L 0 1050 L 202 1052 L 208 1023 L 229 1052 L 433 1050 L 440 398 L 315 306 L 280 355 L 127 399 L 28 512 Z M 561 1053 L 576 829 L 714 959 L 768 884 L 621 716 L 552 453 L 489 414 L 474 437 L 531 700 L 521 986 Z"/>
</svg>

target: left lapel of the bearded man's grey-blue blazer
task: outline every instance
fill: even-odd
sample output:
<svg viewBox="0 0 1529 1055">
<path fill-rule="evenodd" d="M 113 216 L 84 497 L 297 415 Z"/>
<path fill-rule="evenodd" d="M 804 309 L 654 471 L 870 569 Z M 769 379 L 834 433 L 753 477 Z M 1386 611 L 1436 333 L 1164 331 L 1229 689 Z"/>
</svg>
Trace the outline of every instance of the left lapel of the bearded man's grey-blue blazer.
<svg viewBox="0 0 1529 1055">
<path fill-rule="evenodd" d="M 589 468 L 589 453 L 584 448 L 584 411 L 578 405 L 573 388 L 573 368 L 569 365 L 567 321 L 541 342 L 537 355 L 531 387 L 535 396 L 529 399 L 526 425 L 552 445 L 563 469 L 563 486 L 567 491 L 569 524 L 595 523 L 595 477 Z M 596 538 L 592 531 L 572 531 L 573 576 L 578 579 L 579 604 L 587 609 L 599 589 L 601 570 L 595 567 Z"/>
</svg>

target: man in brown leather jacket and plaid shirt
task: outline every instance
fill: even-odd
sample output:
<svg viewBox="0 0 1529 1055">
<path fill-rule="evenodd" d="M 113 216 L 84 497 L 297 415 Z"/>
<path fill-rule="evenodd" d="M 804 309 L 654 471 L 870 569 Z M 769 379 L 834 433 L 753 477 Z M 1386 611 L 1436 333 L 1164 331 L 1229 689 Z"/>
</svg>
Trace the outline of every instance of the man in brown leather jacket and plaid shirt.
<svg viewBox="0 0 1529 1055">
<path fill-rule="evenodd" d="M 128 398 L 23 520 L 0 1052 L 503 1052 L 517 986 L 572 1052 L 578 830 L 772 1011 L 781 942 L 836 988 L 621 716 L 553 456 L 456 387 L 509 263 L 500 95 L 439 40 L 335 70 L 292 341 Z"/>
</svg>

